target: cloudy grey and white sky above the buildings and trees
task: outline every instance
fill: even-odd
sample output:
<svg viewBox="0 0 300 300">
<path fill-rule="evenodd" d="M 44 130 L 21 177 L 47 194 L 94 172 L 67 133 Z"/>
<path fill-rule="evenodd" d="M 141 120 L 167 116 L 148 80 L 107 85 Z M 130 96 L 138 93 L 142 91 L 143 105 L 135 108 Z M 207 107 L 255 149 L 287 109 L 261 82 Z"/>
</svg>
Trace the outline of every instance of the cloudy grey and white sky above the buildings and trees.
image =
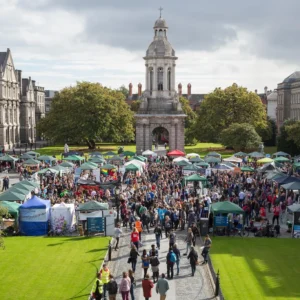
<svg viewBox="0 0 300 300">
<path fill-rule="evenodd" d="M 137 92 L 159 7 L 183 93 L 188 83 L 263 92 L 300 70 L 298 0 L 0 0 L 0 52 L 45 89 L 132 82 Z"/>
</svg>

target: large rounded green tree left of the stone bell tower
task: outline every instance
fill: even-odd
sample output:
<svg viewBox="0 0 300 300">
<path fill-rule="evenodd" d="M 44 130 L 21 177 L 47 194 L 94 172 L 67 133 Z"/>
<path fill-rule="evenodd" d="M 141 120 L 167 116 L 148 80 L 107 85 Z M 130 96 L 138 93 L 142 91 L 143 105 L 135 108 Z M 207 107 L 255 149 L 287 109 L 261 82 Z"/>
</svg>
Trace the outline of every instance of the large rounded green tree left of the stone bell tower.
<svg viewBox="0 0 300 300">
<path fill-rule="evenodd" d="M 52 100 L 49 114 L 37 124 L 46 139 L 56 143 L 123 142 L 134 138 L 133 113 L 124 95 L 99 83 L 78 82 Z"/>
</svg>

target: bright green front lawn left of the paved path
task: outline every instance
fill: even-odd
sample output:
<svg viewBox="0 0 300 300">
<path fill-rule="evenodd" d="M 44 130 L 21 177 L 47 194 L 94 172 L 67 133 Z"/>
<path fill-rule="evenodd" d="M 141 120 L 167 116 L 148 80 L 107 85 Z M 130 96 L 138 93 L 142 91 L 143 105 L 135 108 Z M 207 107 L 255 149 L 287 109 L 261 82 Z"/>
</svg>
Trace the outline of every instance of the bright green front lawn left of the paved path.
<svg viewBox="0 0 300 300">
<path fill-rule="evenodd" d="M 6 238 L 1 299 L 86 300 L 108 243 L 108 237 Z"/>
</svg>

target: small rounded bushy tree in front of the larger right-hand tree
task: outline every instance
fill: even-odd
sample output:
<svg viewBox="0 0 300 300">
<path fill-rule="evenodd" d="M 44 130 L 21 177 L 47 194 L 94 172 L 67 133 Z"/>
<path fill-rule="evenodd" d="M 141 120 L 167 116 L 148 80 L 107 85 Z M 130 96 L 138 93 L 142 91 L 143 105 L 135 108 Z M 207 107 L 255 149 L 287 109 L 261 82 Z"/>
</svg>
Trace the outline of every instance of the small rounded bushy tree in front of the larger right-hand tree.
<svg viewBox="0 0 300 300">
<path fill-rule="evenodd" d="M 245 151 L 257 148 L 261 143 L 261 137 L 251 124 L 233 123 L 222 131 L 221 143 L 234 148 L 235 151 Z"/>
</svg>

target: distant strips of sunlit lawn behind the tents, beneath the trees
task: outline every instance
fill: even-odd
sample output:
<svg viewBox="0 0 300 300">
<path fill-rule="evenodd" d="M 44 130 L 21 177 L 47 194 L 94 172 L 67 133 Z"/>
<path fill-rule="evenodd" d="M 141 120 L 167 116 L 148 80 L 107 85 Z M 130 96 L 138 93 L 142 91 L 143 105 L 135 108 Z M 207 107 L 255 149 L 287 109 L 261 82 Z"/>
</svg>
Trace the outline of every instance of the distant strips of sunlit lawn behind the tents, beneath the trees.
<svg viewBox="0 0 300 300">
<path fill-rule="evenodd" d="M 124 149 L 127 151 L 136 151 L 135 144 L 114 144 L 114 143 L 101 143 L 97 144 L 97 150 L 100 152 L 106 151 L 118 151 L 119 146 L 124 146 Z M 83 151 L 85 154 L 88 154 L 89 150 L 88 147 L 85 145 L 82 146 L 69 146 L 70 150 L 80 150 Z M 44 147 L 41 149 L 37 149 L 37 152 L 41 153 L 42 155 L 56 155 L 57 159 L 61 158 L 61 153 L 64 152 L 63 145 L 56 145 L 56 146 L 49 146 Z M 214 144 L 214 143 L 198 143 L 196 145 L 188 145 L 185 146 L 186 153 L 198 153 L 201 157 L 204 157 L 208 152 L 216 151 L 219 152 L 223 158 L 231 156 L 234 151 L 225 150 L 224 146 L 221 144 Z M 265 147 L 265 152 L 268 154 L 272 154 L 277 151 L 276 147 Z"/>
</svg>

